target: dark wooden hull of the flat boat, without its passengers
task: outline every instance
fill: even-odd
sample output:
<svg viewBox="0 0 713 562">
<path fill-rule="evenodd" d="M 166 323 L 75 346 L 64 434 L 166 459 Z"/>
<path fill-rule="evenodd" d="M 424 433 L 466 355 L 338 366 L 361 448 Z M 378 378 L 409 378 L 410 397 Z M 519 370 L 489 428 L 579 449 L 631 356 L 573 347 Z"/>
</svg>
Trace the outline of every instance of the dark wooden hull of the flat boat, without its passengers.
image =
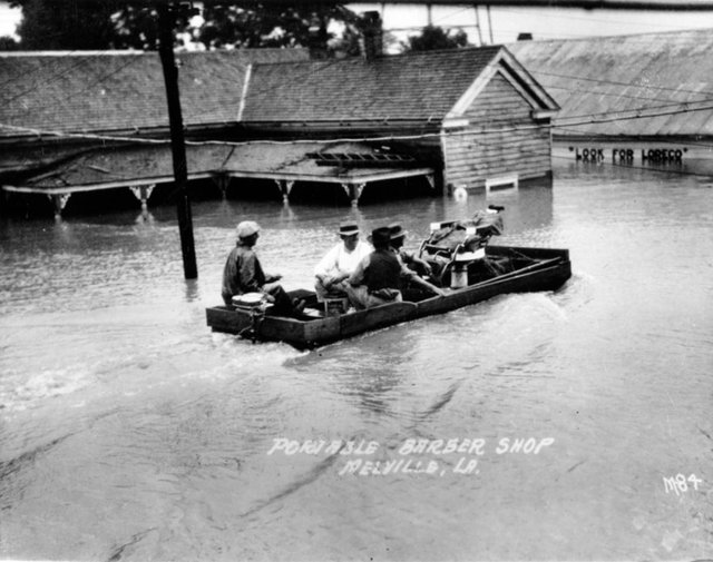
<svg viewBox="0 0 713 562">
<path fill-rule="evenodd" d="M 309 319 L 270 315 L 261 317 L 229 306 L 215 306 L 206 309 L 206 321 L 214 332 L 250 334 L 258 339 L 286 342 L 299 348 L 311 348 L 402 322 L 443 314 L 501 294 L 556 290 L 572 276 L 569 253 L 566 249 L 488 247 L 488 255 L 494 257 L 512 253 L 536 262 L 465 288 L 449 289 L 443 297 L 390 303 L 367 310 Z M 314 299 L 313 293 L 305 290 L 293 292 L 292 295 Z"/>
</svg>

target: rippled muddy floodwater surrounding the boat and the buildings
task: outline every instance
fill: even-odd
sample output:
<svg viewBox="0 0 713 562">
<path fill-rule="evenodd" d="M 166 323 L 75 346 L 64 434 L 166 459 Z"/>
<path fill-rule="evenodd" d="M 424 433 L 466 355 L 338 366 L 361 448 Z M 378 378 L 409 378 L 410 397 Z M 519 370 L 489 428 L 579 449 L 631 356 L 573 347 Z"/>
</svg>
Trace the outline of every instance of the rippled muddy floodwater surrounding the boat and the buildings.
<svg viewBox="0 0 713 562">
<path fill-rule="evenodd" d="M 2 219 L 0 554 L 713 558 L 711 185 L 561 167 L 551 188 L 467 200 L 203 201 L 191 283 L 170 207 Z M 498 244 L 569 248 L 560 290 L 312 352 L 205 325 L 242 219 L 297 288 L 341 220 L 400 219 L 416 248 L 487 204 L 506 207 Z M 377 461 L 404 462 L 360 472 Z"/>
</svg>

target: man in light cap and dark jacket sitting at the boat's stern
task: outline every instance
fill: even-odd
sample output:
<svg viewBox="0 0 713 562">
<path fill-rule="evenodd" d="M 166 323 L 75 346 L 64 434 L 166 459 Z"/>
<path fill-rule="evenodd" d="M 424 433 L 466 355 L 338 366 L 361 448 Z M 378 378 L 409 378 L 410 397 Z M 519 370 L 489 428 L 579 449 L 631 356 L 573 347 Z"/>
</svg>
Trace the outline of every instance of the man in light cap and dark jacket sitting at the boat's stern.
<svg viewBox="0 0 713 562">
<path fill-rule="evenodd" d="M 253 250 L 258 233 L 260 226 L 253 220 L 244 220 L 237 225 L 237 243 L 223 270 L 223 300 L 229 305 L 235 295 L 263 293 L 270 303 L 274 303 L 273 313 L 299 317 L 304 302 L 293 302 L 282 285 L 275 283 L 282 275 L 265 275 Z"/>
</svg>

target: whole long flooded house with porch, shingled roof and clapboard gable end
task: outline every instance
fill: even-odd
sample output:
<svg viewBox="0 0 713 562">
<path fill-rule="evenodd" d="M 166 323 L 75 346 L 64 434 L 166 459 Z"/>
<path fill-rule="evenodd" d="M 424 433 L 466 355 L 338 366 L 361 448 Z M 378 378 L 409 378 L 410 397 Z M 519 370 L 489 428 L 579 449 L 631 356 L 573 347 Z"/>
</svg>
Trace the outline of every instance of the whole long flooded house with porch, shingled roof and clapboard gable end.
<svg viewBox="0 0 713 562">
<path fill-rule="evenodd" d="M 277 51 L 178 56 L 189 180 L 274 183 L 285 198 L 332 184 L 356 203 L 403 178 L 440 189 L 551 175 L 558 106 L 504 47 Z M 0 53 L 0 81 L 7 193 L 49 195 L 59 213 L 72 193 L 129 187 L 145 204 L 173 183 L 155 53 Z"/>
</svg>

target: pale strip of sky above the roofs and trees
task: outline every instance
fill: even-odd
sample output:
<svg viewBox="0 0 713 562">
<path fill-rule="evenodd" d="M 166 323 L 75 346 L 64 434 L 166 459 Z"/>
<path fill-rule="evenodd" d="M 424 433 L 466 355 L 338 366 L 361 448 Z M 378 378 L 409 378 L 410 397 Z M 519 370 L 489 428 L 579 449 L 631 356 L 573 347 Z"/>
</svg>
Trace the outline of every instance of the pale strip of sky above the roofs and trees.
<svg viewBox="0 0 713 562">
<path fill-rule="evenodd" d="M 384 29 L 403 39 L 416 34 L 428 23 L 426 6 L 350 3 L 353 11 L 378 10 L 382 12 Z M 383 11 L 382 11 L 383 9 Z M 10 9 L 0 0 L 0 37 L 14 33 L 21 18 L 19 9 Z M 472 4 L 433 6 L 431 22 L 434 26 L 458 26 L 473 45 L 508 43 L 518 33 L 533 33 L 534 39 L 573 39 L 577 37 L 615 36 L 676 31 L 682 29 L 713 29 L 713 12 L 671 12 L 629 10 L 584 10 L 577 8 L 478 8 L 480 33 L 476 27 L 476 9 Z"/>
</svg>

